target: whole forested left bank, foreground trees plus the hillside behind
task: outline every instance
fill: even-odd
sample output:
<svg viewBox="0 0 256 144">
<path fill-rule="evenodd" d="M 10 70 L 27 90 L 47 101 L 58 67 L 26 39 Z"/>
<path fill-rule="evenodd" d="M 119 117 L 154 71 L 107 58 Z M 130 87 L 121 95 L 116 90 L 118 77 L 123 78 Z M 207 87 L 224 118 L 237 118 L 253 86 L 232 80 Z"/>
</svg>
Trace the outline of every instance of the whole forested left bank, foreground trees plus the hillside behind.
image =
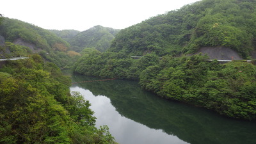
<svg viewBox="0 0 256 144">
<path fill-rule="evenodd" d="M 0 35 L 6 38 L 0 52 L 8 49 L 11 56 L 29 57 L 1 63 L 0 143 L 115 143 L 107 126 L 95 127 L 89 102 L 79 93 L 70 93 L 70 77 L 56 65 L 71 60 L 67 42 L 8 18 L 0 26 Z M 12 43 L 17 40 L 19 44 Z"/>
</svg>

